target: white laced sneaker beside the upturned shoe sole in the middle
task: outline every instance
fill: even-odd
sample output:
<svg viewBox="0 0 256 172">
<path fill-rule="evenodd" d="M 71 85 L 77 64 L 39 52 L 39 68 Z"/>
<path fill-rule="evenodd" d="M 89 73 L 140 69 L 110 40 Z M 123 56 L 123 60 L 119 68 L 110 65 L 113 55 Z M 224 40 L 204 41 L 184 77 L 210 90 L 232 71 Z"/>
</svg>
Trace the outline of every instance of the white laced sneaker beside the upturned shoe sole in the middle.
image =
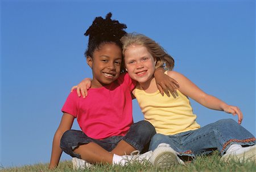
<svg viewBox="0 0 256 172">
<path fill-rule="evenodd" d="M 133 164 L 135 162 L 139 162 L 143 164 L 144 162 L 149 161 L 150 157 L 152 155 L 152 151 L 148 151 L 143 154 L 139 154 L 139 151 L 133 151 L 130 155 L 123 155 L 122 160 L 119 161 L 118 165 L 125 166 L 129 164 Z"/>
</svg>

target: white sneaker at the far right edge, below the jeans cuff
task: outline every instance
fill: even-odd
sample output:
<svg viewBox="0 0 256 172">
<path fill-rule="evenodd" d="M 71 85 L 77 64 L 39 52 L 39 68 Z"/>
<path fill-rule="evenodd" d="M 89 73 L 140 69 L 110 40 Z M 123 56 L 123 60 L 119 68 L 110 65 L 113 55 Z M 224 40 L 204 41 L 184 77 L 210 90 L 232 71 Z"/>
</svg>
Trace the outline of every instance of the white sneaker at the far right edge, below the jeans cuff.
<svg viewBox="0 0 256 172">
<path fill-rule="evenodd" d="M 232 145 L 230 145 L 232 147 Z M 221 157 L 222 161 L 254 161 L 256 162 L 256 145 L 250 147 L 240 147 L 238 149 L 230 149 L 228 153 L 225 153 L 224 156 Z"/>
</svg>

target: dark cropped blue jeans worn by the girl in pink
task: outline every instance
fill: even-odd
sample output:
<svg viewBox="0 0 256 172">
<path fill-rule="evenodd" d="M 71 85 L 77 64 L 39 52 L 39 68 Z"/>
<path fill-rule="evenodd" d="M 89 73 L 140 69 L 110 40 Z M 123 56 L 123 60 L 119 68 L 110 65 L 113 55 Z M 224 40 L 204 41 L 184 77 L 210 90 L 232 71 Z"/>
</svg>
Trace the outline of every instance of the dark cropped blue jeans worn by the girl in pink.
<svg viewBox="0 0 256 172">
<path fill-rule="evenodd" d="M 80 154 L 73 152 L 80 145 L 93 142 L 110 152 L 117 146 L 119 141 L 124 140 L 142 152 L 143 148 L 150 143 L 152 136 L 155 134 L 154 126 L 147 121 L 139 121 L 132 124 L 125 136 L 112 136 L 103 140 L 92 139 L 82 131 L 68 130 L 61 137 L 60 148 L 72 157 L 81 158 Z"/>
</svg>

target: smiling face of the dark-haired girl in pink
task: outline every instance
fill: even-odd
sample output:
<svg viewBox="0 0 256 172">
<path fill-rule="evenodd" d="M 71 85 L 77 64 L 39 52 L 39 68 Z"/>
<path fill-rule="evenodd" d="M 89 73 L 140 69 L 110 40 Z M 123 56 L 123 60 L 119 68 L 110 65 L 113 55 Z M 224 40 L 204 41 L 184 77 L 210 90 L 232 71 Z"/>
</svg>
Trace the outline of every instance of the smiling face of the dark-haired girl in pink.
<svg viewBox="0 0 256 172">
<path fill-rule="evenodd" d="M 101 45 L 87 57 L 87 63 L 92 68 L 92 88 L 100 88 L 112 83 L 120 74 L 122 50 L 114 43 Z"/>
</svg>

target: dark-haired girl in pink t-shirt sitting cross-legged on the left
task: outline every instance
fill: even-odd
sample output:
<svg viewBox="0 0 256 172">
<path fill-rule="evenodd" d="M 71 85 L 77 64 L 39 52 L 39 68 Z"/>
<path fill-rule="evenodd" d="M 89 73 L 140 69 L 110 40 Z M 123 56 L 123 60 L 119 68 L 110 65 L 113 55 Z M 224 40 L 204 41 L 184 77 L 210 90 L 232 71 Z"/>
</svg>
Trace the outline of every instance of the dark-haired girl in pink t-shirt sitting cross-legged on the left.
<svg viewBox="0 0 256 172">
<path fill-rule="evenodd" d="M 59 164 L 62 151 L 75 157 L 75 168 L 86 165 L 78 165 L 85 161 L 125 165 L 134 157 L 126 154 L 142 152 L 155 134 L 150 122 L 133 123 L 130 93 L 136 83 L 123 72 L 120 41 L 126 34 L 126 25 L 111 16 L 109 13 L 106 19 L 97 17 L 85 33 L 89 36 L 85 56 L 93 72 L 92 85 L 86 98 L 79 97 L 77 92 L 69 94 L 53 138 L 49 169 Z M 159 71 L 160 77 L 166 77 Z M 170 78 L 164 80 L 175 82 Z M 172 83 L 167 86 L 175 87 Z M 71 130 L 75 118 L 82 131 Z M 85 161 L 76 161 L 77 158 Z"/>
</svg>

